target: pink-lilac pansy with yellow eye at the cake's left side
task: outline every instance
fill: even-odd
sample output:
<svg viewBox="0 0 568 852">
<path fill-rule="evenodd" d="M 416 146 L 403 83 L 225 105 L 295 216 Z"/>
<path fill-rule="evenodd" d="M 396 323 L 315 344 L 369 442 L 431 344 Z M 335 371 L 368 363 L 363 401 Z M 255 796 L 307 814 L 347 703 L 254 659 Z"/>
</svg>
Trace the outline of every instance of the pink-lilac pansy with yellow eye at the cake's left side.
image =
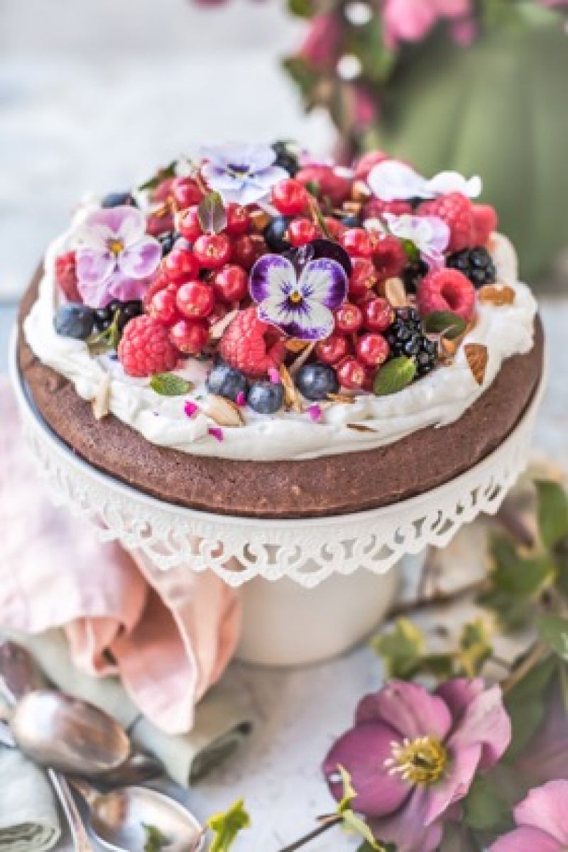
<svg viewBox="0 0 568 852">
<path fill-rule="evenodd" d="M 140 299 L 162 257 L 157 239 L 146 234 L 146 218 L 135 207 L 95 210 L 74 239 L 77 290 L 90 308 L 112 299 Z"/>
</svg>

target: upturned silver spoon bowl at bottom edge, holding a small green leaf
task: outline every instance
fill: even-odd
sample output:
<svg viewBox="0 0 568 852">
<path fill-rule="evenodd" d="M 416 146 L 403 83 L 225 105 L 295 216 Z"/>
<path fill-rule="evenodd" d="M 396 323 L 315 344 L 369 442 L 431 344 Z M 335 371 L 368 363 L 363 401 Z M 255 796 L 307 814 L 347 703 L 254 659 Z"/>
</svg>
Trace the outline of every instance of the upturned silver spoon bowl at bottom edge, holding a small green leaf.
<svg viewBox="0 0 568 852">
<path fill-rule="evenodd" d="M 199 852 L 204 849 L 204 829 L 174 799 L 146 787 L 123 787 L 100 793 L 84 780 L 69 782 L 89 807 L 89 822 L 103 849 L 144 852 L 147 829 L 164 838 L 164 852 Z"/>
</svg>

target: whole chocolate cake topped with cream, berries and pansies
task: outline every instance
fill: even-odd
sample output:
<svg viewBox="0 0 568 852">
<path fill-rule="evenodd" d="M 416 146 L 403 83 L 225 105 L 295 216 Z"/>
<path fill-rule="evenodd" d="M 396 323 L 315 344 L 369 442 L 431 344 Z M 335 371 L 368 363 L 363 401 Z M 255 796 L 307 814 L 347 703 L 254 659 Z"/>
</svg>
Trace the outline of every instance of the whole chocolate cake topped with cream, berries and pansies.
<svg viewBox="0 0 568 852">
<path fill-rule="evenodd" d="M 21 303 L 22 376 L 73 452 L 169 503 L 304 518 L 426 492 L 540 381 L 513 249 L 478 179 L 281 151 L 208 148 L 80 210 Z"/>
</svg>

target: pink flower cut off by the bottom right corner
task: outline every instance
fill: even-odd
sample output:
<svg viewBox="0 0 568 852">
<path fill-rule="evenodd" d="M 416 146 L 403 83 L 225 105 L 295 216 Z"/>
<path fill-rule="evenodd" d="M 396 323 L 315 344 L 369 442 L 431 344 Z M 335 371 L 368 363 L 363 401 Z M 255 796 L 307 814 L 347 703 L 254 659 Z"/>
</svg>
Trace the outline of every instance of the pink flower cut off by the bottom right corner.
<svg viewBox="0 0 568 852">
<path fill-rule="evenodd" d="M 514 809 L 518 828 L 490 852 L 565 852 L 568 849 L 568 781 L 549 781 L 531 790 Z"/>
</svg>

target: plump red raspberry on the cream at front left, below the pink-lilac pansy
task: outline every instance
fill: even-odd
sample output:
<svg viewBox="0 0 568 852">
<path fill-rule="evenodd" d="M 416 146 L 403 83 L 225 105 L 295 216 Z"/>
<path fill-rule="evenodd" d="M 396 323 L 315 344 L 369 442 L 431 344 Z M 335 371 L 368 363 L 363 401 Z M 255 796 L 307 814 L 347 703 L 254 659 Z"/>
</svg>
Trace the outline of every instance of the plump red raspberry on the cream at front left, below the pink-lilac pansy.
<svg viewBox="0 0 568 852">
<path fill-rule="evenodd" d="M 148 316 L 131 320 L 118 344 L 118 358 L 124 371 L 137 378 L 173 370 L 178 356 L 169 341 L 169 329 Z"/>
</svg>

